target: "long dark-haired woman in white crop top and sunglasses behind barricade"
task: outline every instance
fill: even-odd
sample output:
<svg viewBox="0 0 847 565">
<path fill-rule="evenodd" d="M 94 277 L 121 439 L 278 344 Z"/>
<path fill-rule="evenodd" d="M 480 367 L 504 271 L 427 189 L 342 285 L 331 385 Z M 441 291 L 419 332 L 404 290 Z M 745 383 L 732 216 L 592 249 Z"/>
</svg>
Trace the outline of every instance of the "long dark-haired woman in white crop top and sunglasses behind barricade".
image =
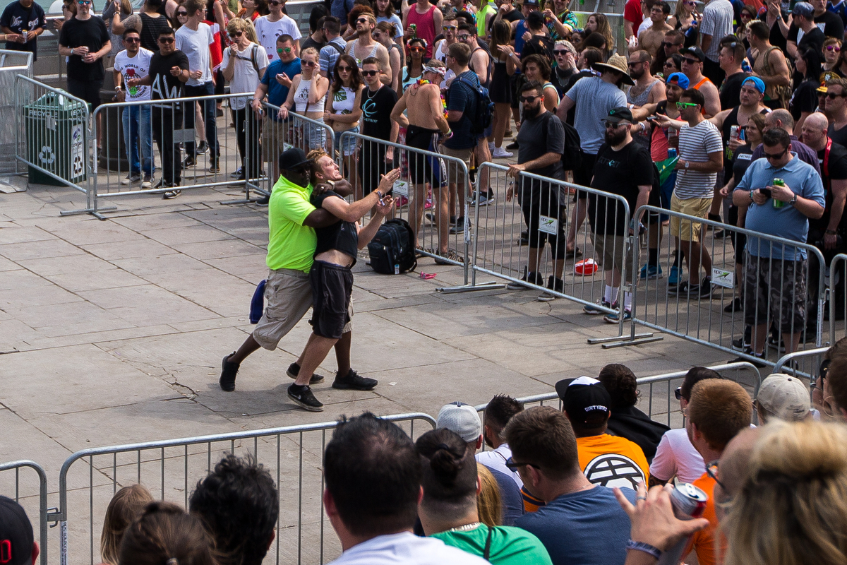
<svg viewBox="0 0 847 565">
<path fill-rule="evenodd" d="M 329 86 L 329 96 L 326 97 L 324 121 L 332 126 L 335 136 L 335 150 L 344 156 L 346 174 L 356 186 L 356 138 L 341 137 L 345 131 L 358 133 L 359 118 L 362 116 L 362 90 L 364 83 L 356 59 L 350 55 L 340 55 L 333 69 L 333 81 Z M 342 171 L 344 174 L 344 171 Z"/>
</svg>

